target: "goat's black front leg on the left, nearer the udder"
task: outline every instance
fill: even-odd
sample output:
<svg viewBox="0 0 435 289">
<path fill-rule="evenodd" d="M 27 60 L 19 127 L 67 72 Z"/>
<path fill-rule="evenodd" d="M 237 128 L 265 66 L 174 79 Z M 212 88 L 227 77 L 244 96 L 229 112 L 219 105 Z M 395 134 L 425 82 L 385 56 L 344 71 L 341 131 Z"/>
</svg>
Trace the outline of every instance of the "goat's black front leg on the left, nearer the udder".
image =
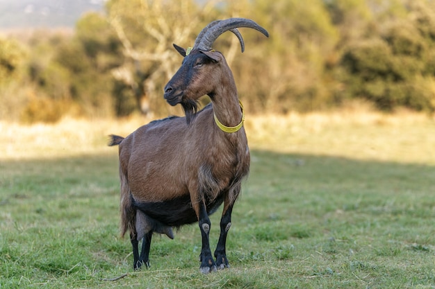
<svg viewBox="0 0 435 289">
<path fill-rule="evenodd" d="M 204 202 L 201 202 L 201 204 L 199 204 L 199 229 L 201 230 L 202 236 L 202 249 L 201 255 L 199 255 L 199 261 L 201 261 L 199 270 L 201 270 L 203 274 L 217 271 L 215 260 L 213 256 L 211 256 L 210 243 L 208 241 L 210 226 L 211 222 L 210 218 L 208 218 L 206 206 Z"/>
</svg>

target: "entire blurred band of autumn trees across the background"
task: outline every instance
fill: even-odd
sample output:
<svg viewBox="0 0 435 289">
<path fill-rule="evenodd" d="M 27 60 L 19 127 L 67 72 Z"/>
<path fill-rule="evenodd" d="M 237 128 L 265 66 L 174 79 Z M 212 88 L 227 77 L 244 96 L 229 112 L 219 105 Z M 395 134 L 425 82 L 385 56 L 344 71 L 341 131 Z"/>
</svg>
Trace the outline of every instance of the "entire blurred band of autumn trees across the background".
<svg viewBox="0 0 435 289">
<path fill-rule="evenodd" d="M 214 44 L 250 112 L 320 110 L 353 98 L 381 110 L 435 111 L 434 1 L 109 0 L 106 14 L 83 15 L 73 33 L 0 40 L 0 117 L 181 113 L 161 97 L 182 61 L 172 43 L 192 46 L 206 24 L 228 17 L 270 33 L 266 40 L 240 28 L 244 55 L 231 33 Z"/>
</svg>

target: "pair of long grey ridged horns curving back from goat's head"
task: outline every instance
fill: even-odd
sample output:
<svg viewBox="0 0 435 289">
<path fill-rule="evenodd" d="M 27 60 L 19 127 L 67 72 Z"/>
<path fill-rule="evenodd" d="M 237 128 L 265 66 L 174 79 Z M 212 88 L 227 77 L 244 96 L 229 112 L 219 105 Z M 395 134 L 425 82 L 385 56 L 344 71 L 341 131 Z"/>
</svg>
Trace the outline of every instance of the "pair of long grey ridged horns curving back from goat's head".
<svg viewBox="0 0 435 289">
<path fill-rule="evenodd" d="M 245 51 L 245 43 L 243 42 L 242 35 L 240 35 L 240 32 L 237 30 L 238 27 L 253 28 L 263 33 L 266 37 L 269 37 L 268 31 L 266 31 L 263 27 L 259 26 L 258 24 L 256 24 L 254 21 L 250 19 L 230 18 L 225 20 L 217 20 L 211 22 L 204 29 L 202 29 L 197 39 L 195 40 L 193 49 L 210 51 L 211 46 L 213 45 L 213 42 L 215 42 L 217 37 L 219 37 L 225 31 L 230 30 L 238 37 L 243 52 Z"/>
</svg>

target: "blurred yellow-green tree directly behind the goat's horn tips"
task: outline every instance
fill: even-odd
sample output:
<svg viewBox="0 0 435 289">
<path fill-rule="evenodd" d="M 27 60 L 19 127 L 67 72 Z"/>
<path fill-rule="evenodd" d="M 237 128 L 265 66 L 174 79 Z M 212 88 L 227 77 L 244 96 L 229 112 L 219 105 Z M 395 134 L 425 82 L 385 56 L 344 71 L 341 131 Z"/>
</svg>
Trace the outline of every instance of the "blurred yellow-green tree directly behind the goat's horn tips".
<svg viewBox="0 0 435 289">
<path fill-rule="evenodd" d="M 326 64 L 334 57 L 338 31 L 323 1 L 256 0 L 244 12 L 270 33 L 265 40 L 247 31 L 249 53 L 233 66 L 249 109 L 286 113 L 331 103 Z"/>
</svg>

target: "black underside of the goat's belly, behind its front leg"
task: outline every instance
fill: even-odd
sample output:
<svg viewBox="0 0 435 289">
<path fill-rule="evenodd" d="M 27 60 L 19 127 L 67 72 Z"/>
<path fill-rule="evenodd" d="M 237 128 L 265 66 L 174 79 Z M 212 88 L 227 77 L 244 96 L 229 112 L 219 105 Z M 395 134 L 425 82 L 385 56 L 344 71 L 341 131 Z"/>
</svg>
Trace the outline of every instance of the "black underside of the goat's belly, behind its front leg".
<svg viewBox="0 0 435 289">
<path fill-rule="evenodd" d="M 207 204 L 208 214 L 214 213 L 220 207 L 222 201 L 223 197 L 209 202 Z M 170 227 L 181 227 L 198 220 L 189 195 L 163 202 L 140 202 L 133 199 L 133 205 L 150 218 Z"/>
</svg>

